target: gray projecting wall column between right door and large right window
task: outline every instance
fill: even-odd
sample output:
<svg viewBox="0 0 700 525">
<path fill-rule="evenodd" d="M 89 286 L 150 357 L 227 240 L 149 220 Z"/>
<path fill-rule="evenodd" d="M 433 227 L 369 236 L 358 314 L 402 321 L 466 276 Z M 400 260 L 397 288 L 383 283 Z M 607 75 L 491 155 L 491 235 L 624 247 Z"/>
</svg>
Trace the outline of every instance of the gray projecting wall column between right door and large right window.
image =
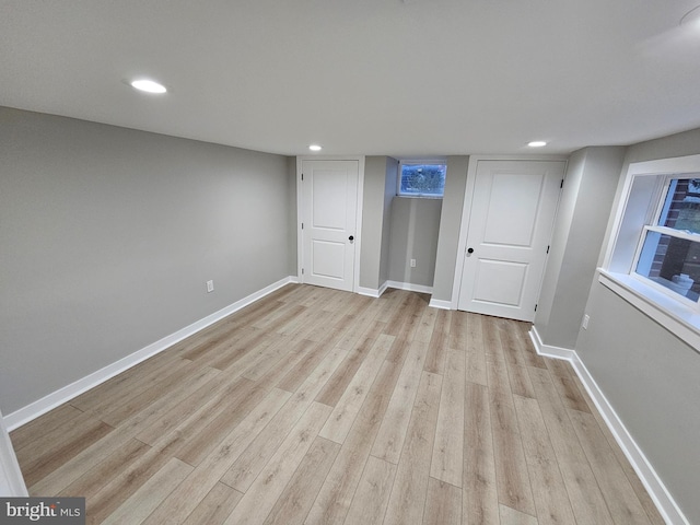
<svg viewBox="0 0 700 525">
<path fill-rule="evenodd" d="M 569 159 L 535 317 L 545 345 L 576 343 L 625 151 L 585 148 Z"/>
</svg>

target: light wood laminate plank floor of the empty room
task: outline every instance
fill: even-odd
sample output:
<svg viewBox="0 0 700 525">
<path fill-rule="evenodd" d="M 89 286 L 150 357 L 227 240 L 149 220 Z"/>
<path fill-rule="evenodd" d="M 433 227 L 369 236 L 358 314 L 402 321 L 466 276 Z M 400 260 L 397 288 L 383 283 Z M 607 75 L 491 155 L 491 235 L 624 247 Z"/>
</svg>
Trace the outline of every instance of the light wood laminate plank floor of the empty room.
<svg viewBox="0 0 700 525">
<path fill-rule="evenodd" d="M 11 438 L 89 523 L 663 523 L 528 329 L 292 284 Z"/>
</svg>

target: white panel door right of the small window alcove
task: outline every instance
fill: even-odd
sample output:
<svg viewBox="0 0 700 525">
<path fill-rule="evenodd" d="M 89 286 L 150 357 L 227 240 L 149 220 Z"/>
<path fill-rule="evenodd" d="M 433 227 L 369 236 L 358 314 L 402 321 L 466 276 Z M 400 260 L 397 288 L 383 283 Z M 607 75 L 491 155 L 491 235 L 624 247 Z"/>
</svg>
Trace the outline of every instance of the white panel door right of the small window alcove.
<svg viewBox="0 0 700 525">
<path fill-rule="evenodd" d="M 457 307 L 535 318 L 563 161 L 478 161 Z"/>
</svg>

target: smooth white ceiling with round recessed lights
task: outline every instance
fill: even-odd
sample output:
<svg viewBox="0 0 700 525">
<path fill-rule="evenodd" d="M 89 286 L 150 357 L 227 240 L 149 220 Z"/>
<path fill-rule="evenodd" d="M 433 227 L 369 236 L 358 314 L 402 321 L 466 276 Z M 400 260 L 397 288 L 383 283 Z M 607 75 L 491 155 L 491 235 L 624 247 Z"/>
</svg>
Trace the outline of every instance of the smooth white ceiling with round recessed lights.
<svg viewBox="0 0 700 525">
<path fill-rule="evenodd" d="M 289 155 L 628 144 L 700 127 L 698 3 L 0 0 L 0 105 Z"/>
</svg>

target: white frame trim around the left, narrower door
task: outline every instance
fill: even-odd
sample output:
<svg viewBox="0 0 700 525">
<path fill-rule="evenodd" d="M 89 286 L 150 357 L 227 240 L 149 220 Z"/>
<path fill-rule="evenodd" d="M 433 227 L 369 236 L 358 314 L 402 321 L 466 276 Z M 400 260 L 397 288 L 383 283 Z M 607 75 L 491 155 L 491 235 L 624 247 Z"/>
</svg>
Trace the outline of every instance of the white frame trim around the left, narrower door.
<svg viewBox="0 0 700 525">
<path fill-rule="evenodd" d="M 358 208 L 355 213 L 354 270 L 352 276 L 352 291 L 359 293 L 360 288 L 360 254 L 362 246 L 362 205 L 364 196 L 364 155 L 300 155 L 296 158 L 296 276 L 299 282 L 304 282 L 302 268 L 304 267 L 304 234 L 302 218 L 304 200 L 302 195 L 302 164 L 304 161 L 357 161 L 358 162 Z"/>
</svg>

